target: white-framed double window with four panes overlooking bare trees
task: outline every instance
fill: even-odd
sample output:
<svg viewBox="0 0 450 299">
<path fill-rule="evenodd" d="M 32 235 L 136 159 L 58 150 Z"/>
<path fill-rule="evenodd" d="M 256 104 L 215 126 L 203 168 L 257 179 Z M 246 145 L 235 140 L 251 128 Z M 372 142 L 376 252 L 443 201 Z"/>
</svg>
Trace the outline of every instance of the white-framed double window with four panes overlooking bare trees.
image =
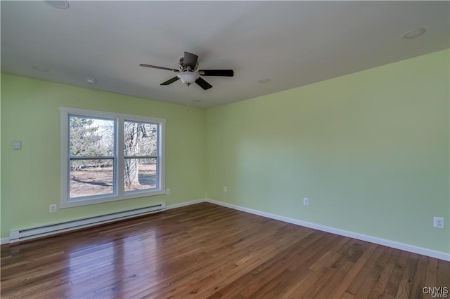
<svg viewBox="0 0 450 299">
<path fill-rule="evenodd" d="M 60 111 L 61 208 L 165 194 L 165 119 Z"/>
</svg>

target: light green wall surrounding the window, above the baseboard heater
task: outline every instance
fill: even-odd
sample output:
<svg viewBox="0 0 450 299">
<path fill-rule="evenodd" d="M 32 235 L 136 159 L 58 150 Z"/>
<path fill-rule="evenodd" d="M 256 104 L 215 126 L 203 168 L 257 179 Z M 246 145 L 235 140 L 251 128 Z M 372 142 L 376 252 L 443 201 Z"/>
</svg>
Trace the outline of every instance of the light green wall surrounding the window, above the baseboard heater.
<svg viewBox="0 0 450 299">
<path fill-rule="evenodd" d="M 169 195 L 60 209 L 59 107 L 97 109 L 167 119 Z M 22 150 L 13 150 L 13 140 Z M 115 93 L 1 75 L 1 237 L 11 229 L 205 197 L 205 110 Z"/>
</svg>

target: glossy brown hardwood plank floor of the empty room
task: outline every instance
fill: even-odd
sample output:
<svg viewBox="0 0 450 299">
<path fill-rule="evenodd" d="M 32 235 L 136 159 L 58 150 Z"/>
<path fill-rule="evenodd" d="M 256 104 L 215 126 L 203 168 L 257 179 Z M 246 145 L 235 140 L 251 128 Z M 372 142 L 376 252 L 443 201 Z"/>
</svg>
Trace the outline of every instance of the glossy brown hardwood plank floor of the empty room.
<svg viewBox="0 0 450 299">
<path fill-rule="evenodd" d="M 1 246 L 1 298 L 432 298 L 449 264 L 205 203 Z"/>
</svg>

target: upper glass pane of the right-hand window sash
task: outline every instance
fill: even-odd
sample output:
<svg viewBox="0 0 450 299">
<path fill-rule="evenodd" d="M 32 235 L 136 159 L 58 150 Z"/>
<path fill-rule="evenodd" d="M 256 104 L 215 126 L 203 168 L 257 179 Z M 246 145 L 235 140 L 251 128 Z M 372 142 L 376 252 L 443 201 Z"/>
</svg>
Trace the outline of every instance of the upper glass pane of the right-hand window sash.
<svg viewBox="0 0 450 299">
<path fill-rule="evenodd" d="M 124 122 L 124 155 L 156 156 L 158 124 Z"/>
</svg>

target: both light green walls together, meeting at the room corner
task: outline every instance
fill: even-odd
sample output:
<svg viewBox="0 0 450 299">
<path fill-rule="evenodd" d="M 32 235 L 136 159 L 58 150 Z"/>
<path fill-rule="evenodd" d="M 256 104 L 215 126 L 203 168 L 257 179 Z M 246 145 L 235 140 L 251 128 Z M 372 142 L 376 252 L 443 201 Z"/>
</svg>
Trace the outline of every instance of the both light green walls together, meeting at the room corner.
<svg viewBox="0 0 450 299">
<path fill-rule="evenodd" d="M 449 55 L 439 51 L 206 111 L 3 74 L 1 237 L 206 194 L 450 253 Z M 49 213 L 60 192 L 60 106 L 167 119 L 171 194 Z M 13 140 L 23 149 L 12 150 Z M 225 185 L 229 192 L 222 192 Z M 432 228 L 433 215 L 445 217 L 445 230 Z"/>
</svg>

